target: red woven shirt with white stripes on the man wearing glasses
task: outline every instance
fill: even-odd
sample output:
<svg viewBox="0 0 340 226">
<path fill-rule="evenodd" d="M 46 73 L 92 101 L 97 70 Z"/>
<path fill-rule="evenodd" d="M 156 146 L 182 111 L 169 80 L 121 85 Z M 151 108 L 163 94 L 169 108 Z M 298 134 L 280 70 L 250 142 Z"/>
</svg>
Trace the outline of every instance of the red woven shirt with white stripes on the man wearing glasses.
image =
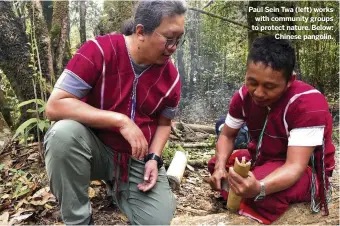
<svg viewBox="0 0 340 226">
<path fill-rule="evenodd" d="M 129 116 L 150 145 L 160 115 L 170 119 L 175 116 L 180 85 L 171 60 L 164 65 L 150 65 L 136 74 L 124 36 L 110 34 L 85 43 L 69 61 L 55 87 L 93 107 Z M 130 144 L 117 128 L 94 132 L 113 150 L 131 154 Z M 125 155 L 122 161 L 127 158 Z"/>
</svg>

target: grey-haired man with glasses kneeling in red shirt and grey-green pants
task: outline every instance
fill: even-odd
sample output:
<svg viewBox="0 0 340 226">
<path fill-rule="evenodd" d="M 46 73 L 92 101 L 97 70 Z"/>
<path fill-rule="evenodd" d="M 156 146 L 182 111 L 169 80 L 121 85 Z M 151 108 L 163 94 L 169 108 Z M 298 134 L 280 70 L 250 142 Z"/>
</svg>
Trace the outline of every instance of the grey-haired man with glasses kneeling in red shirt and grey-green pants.
<svg viewBox="0 0 340 226">
<path fill-rule="evenodd" d="M 131 224 L 169 224 L 176 207 L 162 166 L 180 99 L 170 56 L 182 43 L 183 1 L 140 1 L 124 35 L 85 43 L 68 63 L 46 113 L 45 161 L 65 224 L 92 224 L 90 180 L 112 184 Z"/>
</svg>

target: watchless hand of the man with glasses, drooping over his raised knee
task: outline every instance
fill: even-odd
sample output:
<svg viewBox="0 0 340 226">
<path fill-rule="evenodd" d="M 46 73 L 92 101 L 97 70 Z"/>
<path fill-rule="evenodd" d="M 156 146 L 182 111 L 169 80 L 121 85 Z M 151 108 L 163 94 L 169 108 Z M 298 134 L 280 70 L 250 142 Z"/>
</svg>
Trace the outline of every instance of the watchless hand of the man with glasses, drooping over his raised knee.
<svg viewBox="0 0 340 226">
<path fill-rule="evenodd" d="M 143 160 L 148 153 L 148 142 L 140 128 L 131 119 L 126 117 L 119 131 L 131 145 L 132 156 Z"/>
</svg>

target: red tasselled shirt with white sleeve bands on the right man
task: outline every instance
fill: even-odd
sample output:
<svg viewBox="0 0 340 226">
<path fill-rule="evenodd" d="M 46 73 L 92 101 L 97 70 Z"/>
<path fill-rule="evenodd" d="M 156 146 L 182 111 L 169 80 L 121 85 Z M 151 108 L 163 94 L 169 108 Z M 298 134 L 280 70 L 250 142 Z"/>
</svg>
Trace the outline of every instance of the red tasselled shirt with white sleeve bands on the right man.
<svg viewBox="0 0 340 226">
<path fill-rule="evenodd" d="M 256 158 L 256 147 L 267 115 Z M 243 122 L 249 129 L 251 142 L 248 149 L 257 166 L 267 161 L 285 161 L 288 146 L 315 146 L 313 157 L 318 179 L 328 187 L 327 178 L 335 167 L 335 147 L 332 144 L 332 116 L 319 91 L 306 83 L 294 81 L 276 103 L 260 107 L 253 102 L 246 86 L 242 86 L 232 98 L 226 124 L 237 128 Z M 318 136 L 320 131 L 322 133 Z M 323 204 L 325 192 L 324 189 L 320 191 Z"/>
</svg>

